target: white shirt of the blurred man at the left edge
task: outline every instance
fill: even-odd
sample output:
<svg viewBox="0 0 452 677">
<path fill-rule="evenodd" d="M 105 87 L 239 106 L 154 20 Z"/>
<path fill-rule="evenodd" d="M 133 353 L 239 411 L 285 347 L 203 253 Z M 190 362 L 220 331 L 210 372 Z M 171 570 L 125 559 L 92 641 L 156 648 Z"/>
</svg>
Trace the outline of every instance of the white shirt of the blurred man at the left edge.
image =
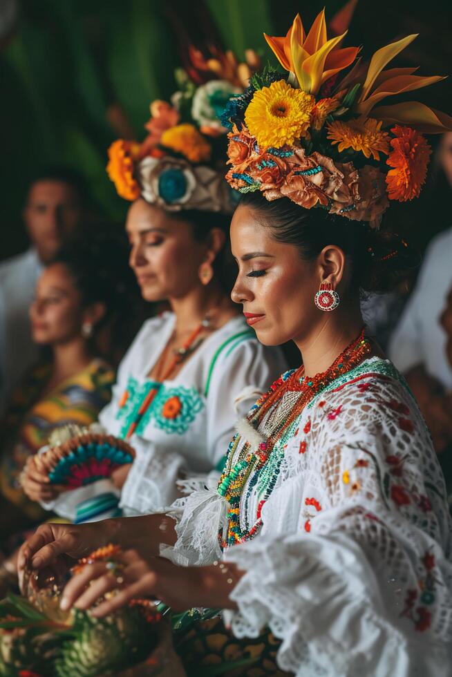
<svg viewBox="0 0 452 677">
<path fill-rule="evenodd" d="M 0 263 L 0 415 L 13 388 L 37 360 L 28 309 L 43 269 L 35 249 Z"/>
</svg>

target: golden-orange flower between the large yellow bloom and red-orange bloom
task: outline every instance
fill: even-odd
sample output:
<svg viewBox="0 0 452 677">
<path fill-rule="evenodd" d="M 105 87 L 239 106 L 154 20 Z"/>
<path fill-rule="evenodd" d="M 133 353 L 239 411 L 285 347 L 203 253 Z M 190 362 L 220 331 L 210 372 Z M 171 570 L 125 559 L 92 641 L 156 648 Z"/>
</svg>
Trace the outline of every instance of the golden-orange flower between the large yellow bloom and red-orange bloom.
<svg viewBox="0 0 452 677">
<path fill-rule="evenodd" d="M 339 153 L 352 148 L 354 151 L 361 151 L 366 158 L 372 155 L 374 160 L 379 160 L 379 153 L 389 153 L 390 136 L 387 132 L 382 132 L 382 121 L 373 120 L 368 117 L 364 122 L 362 120 L 350 120 L 349 122 L 330 122 L 328 126 L 328 139 L 333 144 L 339 144 Z"/>
</svg>

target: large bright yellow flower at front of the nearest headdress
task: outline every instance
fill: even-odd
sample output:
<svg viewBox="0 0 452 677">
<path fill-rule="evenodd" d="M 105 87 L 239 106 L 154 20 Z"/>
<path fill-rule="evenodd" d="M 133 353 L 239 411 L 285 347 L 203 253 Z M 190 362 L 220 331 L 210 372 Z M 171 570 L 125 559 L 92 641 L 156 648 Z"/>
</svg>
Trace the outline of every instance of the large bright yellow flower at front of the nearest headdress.
<svg viewBox="0 0 452 677">
<path fill-rule="evenodd" d="M 294 140 L 306 135 L 314 104 L 310 94 L 278 80 L 254 93 L 245 123 L 261 150 L 291 146 Z"/>
</svg>

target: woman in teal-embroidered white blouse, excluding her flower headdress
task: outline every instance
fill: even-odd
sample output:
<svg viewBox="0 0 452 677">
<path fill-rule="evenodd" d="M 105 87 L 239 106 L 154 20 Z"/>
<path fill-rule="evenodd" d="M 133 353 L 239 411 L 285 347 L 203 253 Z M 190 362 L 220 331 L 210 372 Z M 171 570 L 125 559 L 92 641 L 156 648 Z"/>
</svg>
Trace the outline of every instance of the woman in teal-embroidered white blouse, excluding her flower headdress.
<svg viewBox="0 0 452 677">
<path fill-rule="evenodd" d="M 196 223 L 188 220 L 194 216 Z M 285 368 L 279 348 L 258 342 L 220 284 L 228 224 L 222 214 L 170 214 L 141 198 L 131 205 L 126 231 L 142 295 L 166 298 L 173 309 L 144 323 L 100 413 L 103 428 L 128 439 L 136 457 L 113 473 L 113 482 L 66 491 L 43 502 L 47 509 L 80 522 L 100 519 L 111 515 L 120 494 L 125 515 L 145 514 L 180 496 L 179 481 L 190 486 L 190 478 L 207 481 L 222 469 L 237 414 Z M 175 363 L 173 353 L 184 344 Z"/>
</svg>

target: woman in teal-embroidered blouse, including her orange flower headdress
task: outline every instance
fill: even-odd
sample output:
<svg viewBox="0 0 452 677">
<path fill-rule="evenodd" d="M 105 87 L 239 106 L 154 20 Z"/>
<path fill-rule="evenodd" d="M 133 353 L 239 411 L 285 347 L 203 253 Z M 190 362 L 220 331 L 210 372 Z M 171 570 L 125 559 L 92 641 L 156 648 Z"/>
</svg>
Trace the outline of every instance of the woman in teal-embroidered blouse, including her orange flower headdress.
<svg viewBox="0 0 452 677">
<path fill-rule="evenodd" d="M 107 171 L 120 196 L 131 201 L 130 265 L 144 299 L 167 300 L 171 311 L 144 323 L 99 417 L 104 433 L 131 444 L 133 464 L 45 504 L 67 519 L 114 514 L 119 494 L 126 515 L 171 504 L 179 482 L 222 468 L 237 410 L 246 411 L 256 391 L 285 368 L 279 349 L 257 341 L 229 296 L 234 191 L 223 178 L 227 130 L 214 107 L 243 91 L 238 66 L 229 59 L 229 80 L 206 66 L 206 82 L 197 88 L 182 78 L 174 106 L 151 104 L 142 144 L 118 140 L 109 149 Z M 34 496 L 48 488 L 42 469 L 32 464 L 24 484 Z"/>
</svg>

